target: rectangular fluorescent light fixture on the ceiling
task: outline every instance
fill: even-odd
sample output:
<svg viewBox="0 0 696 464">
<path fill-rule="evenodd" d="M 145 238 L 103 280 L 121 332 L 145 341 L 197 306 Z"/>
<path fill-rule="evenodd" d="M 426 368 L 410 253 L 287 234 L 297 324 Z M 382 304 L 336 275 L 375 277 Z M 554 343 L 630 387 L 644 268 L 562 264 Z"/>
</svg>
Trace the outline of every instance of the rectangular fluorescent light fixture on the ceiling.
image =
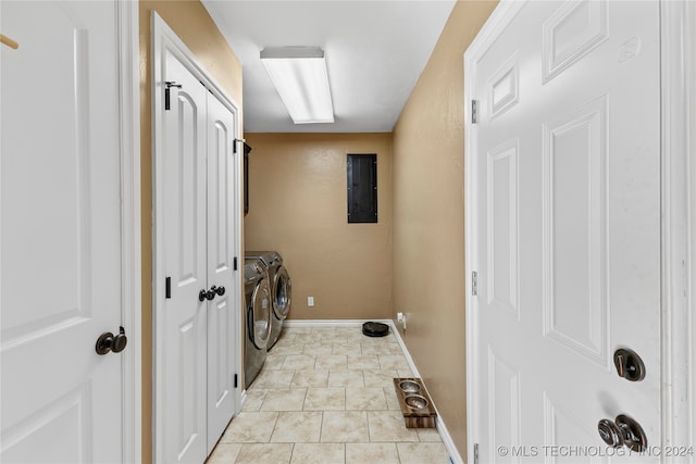
<svg viewBox="0 0 696 464">
<path fill-rule="evenodd" d="M 270 47 L 261 62 L 295 124 L 333 123 L 324 50 L 319 47 Z"/>
</svg>

